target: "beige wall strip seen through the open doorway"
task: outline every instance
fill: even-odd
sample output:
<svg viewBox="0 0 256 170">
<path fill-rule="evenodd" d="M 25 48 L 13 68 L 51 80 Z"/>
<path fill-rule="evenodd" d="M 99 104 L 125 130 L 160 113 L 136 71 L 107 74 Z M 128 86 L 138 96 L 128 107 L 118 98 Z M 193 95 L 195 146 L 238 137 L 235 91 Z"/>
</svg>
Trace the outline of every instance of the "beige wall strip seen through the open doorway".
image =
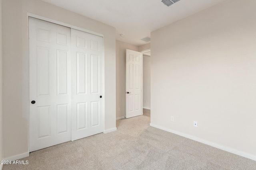
<svg viewBox="0 0 256 170">
<path fill-rule="evenodd" d="M 150 109 L 150 56 L 143 55 L 143 108 Z"/>
</svg>

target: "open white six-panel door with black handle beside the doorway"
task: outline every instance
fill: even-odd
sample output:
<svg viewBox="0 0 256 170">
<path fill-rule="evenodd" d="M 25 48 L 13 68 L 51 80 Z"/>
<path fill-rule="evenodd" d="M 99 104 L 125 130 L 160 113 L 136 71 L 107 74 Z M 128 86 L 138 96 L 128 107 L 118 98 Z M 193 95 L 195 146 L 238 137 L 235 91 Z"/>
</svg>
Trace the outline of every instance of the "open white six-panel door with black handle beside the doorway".
<svg viewBox="0 0 256 170">
<path fill-rule="evenodd" d="M 126 49 L 126 118 L 142 115 L 142 53 Z"/>
</svg>

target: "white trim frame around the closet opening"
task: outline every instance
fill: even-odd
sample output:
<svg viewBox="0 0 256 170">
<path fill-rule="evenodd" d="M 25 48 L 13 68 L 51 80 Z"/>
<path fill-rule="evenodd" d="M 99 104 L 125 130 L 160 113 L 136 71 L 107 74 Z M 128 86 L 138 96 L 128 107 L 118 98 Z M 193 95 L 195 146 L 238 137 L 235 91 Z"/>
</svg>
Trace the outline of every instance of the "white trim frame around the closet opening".
<svg viewBox="0 0 256 170">
<path fill-rule="evenodd" d="M 57 20 L 53 20 L 53 19 L 50 19 L 50 18 L 46 18 L 46 17 L 43 17 L 43 16 L 39 16 L 39 15 L 36 15 L 36 14 L 32 14 L 30 12 L 27 12 L 27 28 L 29 26 L 29 21 L 28 21 L 28 18 L 29 17 L 32 17 L 32 18 L 36 18 L 36 19 L 39 19 L 39 20 L 43 20 L 43 21 L 48 21 L 48 22 L 51 22 L 51 23 L 55 23 L 55 24 L 58 24 L 58 25 L 62 25 L 64 27 L 69 27 L 69 28 L 73 28 L 73 29 L 77 29 L 77 30 L 80 30 L 80 31 L 84 31 L 86 33 L 91 33 L 91 34 L 94 34 L 94 35 L 98 35 L 100 37 L 102 37 L 102 40 L 103 40 L 103 56 L 102 56 L 102 62 L 103 62 L 103 78 L 102 78 L 102 84 L 103 84 L 103 89 L 102 89 L 102 94 L 105 96 L 105 44 L 104 44 L 104 34 L 101 34 L 101 33 L 97 33 L 97 32 L 94 32 L 94 31 L 90 31 L 88 29 L 84 29 L 84 28 L 81 28 L 81 27 L 77 27 L 77 26 L 74 26 L 74 25 L 71 25 L 71 24 L 68 24 L 68 23 L 64 23 L 64 22 L 61 22 L 61 21 L 57 21 Z M 27 38 L 29 39 L 29 30 L 27 29 Z M 29 41 L 28 41 L 29 42 Z M 29 44 L 28 44 L 28 47 L 29 47 Z M 29 55 L 28 55 L 28 59 L 29 59 Z M 30 87 L 29 87 L 29 60 L 28 60 L 28 99 L 29 99 L 29 96 L 30 96 Z M 105 99 L 105 97 L 104 97 Z M 28 111 L 29 111 L 29 102 L 28 101 Z M 102 132 L 104 133 L 104 128 L 105 128 L 105 100 L 102 101 L 102 123 L 103 123 L 103 129 L 102 129 Z M 29 121 L 29 112 L 28 112 L 28 121 Z M 72 121 L 71 121 L 71 126 L 72 126 Z M 29 151 L 29 122 L 28 122 L 28 152 Z"/>
</svg>

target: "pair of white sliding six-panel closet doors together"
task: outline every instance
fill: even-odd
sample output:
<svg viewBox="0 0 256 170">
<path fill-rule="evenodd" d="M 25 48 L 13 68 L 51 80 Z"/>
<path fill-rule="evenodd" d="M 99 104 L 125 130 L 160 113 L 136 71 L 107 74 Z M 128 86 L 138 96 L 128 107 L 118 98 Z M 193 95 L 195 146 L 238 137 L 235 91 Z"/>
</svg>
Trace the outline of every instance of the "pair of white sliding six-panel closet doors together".
<svg viewBox="0 0 256 170">
<path fill-rule="evenodd" d="M 30 152 L 103 132 L 102 39 L 29 18 Z"/>
</svg>

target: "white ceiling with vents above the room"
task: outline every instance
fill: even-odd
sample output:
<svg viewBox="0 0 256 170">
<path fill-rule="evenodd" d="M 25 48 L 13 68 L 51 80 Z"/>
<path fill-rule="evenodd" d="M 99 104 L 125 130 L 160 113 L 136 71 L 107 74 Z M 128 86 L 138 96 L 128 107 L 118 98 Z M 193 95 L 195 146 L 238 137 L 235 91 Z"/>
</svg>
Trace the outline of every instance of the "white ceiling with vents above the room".
<svg viewBox="0 0 256 170">
<path fill-rule="evenodd" d="M 224 0 L 180 0 L 165 6 L 161 0 L 42 0 L 116 28 L 116 39 L 133 45 L 150 32 L 186 18 Z M 124 37 L 120 37 L 120 34 Z"/>
</svg>

